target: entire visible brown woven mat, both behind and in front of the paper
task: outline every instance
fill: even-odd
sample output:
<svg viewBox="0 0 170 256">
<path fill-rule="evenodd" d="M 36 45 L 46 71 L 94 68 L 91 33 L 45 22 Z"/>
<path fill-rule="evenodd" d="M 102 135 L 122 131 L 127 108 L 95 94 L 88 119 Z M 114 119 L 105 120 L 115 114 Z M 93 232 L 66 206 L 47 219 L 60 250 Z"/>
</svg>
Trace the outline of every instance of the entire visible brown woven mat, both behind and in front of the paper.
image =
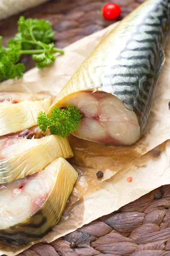
<svg viewBox="0 0 170 256">
<path fill-rule="evenodd" d="M 122 17 L 144 0 L 114 0 Z M 55 30 L 55 44 L 65 47 L 111 24 L 97 10 L 108 0 L 50 1 L 24 12 L 26 17 L 45 18 Z M 15 15 L 0 21 L 4 42 L 16 32 Z M 23 57 L 26 70 L 34 66 Z M 170 185 L 161 186 L 117 212 L 99 218 L 52 242 L 40 243 L 19 256 L 170 256 Z"/>
</svg>

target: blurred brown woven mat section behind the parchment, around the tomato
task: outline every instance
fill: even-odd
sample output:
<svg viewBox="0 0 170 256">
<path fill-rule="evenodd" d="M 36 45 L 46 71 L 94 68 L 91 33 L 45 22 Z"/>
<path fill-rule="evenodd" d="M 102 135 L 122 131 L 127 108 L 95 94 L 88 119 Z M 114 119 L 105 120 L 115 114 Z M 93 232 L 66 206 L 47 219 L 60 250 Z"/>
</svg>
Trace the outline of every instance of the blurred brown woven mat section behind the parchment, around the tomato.
<svg viewBox="0 0 170 256">
<path fill-rule="evenodd" d="M 97 11 L 105 3 L 114 2 L 121 6 L 121 20 L 144 0 L 51 0 L 40 6 L 29 9 L 19 15 L 14 15 L 0 21 L 0 35 L 3 36 L 3 45 L 17 32 L 17 20 L 20 15 L 26 18 L 49 20 L 55 31 L 55 45 L 63 48 L 75 41 L 90 35 L 116 21 L 105 20 Z M 31 56 L 22 56 L 26 70 L 34 67 Z"/>
</svg>

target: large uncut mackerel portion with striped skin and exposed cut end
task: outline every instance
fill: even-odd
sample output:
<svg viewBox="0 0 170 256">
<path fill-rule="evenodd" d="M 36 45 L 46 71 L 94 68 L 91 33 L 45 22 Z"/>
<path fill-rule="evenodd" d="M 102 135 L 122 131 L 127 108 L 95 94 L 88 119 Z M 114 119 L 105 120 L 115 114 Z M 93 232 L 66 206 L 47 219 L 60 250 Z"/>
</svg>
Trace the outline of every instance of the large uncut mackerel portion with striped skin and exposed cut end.
<svg viewBox="0 0 170 256">
<path fill-rule="evenodd" d="M 55 106 L 77 106 L 83 114 L 82 125 L 73 135 L 82 139 L 135 143 L 144 133 L 169 31 L 170 1 L 144 2 L 91 52 L 50 111 Z M 103 131 L 97 125 L 94 128 L 92 119 L 98 120 Z"/>
</svg>

